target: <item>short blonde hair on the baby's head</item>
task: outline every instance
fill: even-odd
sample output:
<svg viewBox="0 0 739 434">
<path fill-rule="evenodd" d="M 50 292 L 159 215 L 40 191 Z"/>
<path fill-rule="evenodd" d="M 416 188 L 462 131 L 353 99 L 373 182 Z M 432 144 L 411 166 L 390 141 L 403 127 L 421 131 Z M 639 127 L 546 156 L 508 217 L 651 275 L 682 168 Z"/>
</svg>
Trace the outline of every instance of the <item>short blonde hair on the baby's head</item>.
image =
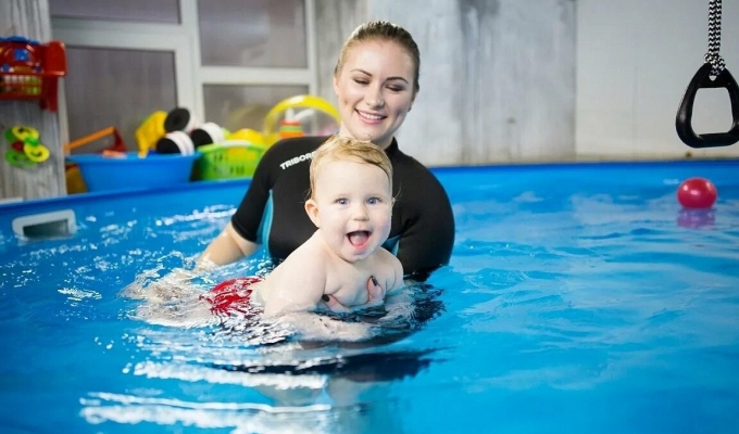
<svg viewBox="0 0 739 434">
<path fill-rule="evenodd" d="M 341 161 L 353 161 L 379 167 L 388 176 L 390 191 L 392 191 L 392 164 L 390 164 L 390 158 L 385 154 L 385 151 L 368 141 L 334 135 L 326 139 L 313 154 L 310 197 L 313 197 L 315 192 L 315 180 L 321 167 L 329 162 Z"/>
</svg>

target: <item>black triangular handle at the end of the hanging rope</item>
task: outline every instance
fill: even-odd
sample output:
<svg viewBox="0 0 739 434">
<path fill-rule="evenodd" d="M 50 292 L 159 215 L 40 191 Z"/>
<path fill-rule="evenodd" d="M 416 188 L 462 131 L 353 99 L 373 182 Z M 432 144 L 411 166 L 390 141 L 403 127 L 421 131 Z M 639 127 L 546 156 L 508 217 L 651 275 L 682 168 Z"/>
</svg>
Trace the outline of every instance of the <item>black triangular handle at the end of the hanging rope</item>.
<svg viewBox="0 0 739 434">
<path fill-rule="evenodd" d="M 711 67 L 711 63 L 706 62 L 698 69 L 692 80 L 688 84 L 688 89 L 685 91 L 685 97 L 682 97 L 680 106 L 677 110 L 677 117 L 675 118 L 677 136 L 680 137 L 685 144 L 691 148 L 728 146 L 739 142 L 739 87 L 737 87 L 737 81 L 726 68 L 712 80 L 710 77 Z M 709 88 L 725 88 L 729 92 L 734 122 L 731 129 L 727 132 L 697 135 L 692 129 L 692 106 L 696 102 L 696 93 L 698 89 Z"/>
</svg>

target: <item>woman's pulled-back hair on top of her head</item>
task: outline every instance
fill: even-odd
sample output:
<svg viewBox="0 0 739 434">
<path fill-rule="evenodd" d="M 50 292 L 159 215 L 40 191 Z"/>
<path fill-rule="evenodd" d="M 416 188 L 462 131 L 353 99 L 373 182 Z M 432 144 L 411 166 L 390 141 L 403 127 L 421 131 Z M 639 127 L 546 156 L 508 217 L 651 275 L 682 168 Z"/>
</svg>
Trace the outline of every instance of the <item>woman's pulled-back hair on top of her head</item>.
<svg viewBox="0 0 739 434">
<path fill-rule="evenodd" d="M 418 51 L 418 46 L 406 29 L 387 21 L 369 21 L 352 31 L 349 39 L 341 47 L 339 60 L 334 68 L 334 75 L 338 75 L 341 72 L 341 67 L 346 63 L 347 55 L 352 47 L 366 41 L 394 42 L 402 47 L 413 61 L 413 92 L 418 92 L 418 89 L 421 89 L 418 85 L 418 75 L 421 73 L 421 52 Z"/>
</svg>

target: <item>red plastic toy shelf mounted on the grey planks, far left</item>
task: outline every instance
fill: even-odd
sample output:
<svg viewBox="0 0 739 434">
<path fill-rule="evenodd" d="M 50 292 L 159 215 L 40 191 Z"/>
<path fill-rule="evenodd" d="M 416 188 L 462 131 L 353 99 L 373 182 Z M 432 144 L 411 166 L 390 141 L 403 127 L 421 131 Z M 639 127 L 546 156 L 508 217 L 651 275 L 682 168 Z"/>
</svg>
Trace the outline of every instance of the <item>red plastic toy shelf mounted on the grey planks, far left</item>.
<svg viewBox="0 0 739 434">
<path fill-rule="evenodd" d="M 55 112 L 59 77 L 65 75 L 63 42 L 0 38 L 0 100 L 39 100 L 42 110 Z"/>
</svg>

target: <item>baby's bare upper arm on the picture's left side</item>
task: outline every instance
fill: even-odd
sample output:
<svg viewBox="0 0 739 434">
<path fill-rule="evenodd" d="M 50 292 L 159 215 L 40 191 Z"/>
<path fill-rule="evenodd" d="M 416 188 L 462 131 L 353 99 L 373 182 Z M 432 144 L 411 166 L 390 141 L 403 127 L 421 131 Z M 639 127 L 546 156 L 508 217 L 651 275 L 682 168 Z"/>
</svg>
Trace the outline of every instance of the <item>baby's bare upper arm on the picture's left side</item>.
<svg viewBox="0 0 739 434">
<path fill-rule="evenodd" d="M 326 266 L 315 252 L 296 251 L 263 283 L 265 316 L 312 310 L 326 288 Z"/>
</svg>

